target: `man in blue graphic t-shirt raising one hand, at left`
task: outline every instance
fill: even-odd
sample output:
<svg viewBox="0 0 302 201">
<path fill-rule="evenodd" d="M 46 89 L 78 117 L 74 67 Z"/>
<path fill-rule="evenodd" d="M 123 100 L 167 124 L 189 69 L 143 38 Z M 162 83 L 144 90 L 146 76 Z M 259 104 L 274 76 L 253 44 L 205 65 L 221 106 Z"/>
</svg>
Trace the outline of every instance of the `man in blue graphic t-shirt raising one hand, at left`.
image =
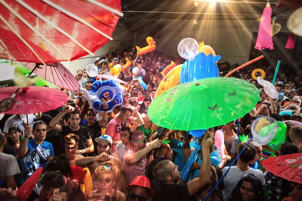
<svg viewBox="0 0 302 201">
<path fill-rule="evenodd" d="M 44 167 L 49 156 L 53 156 L 53 146 L 44 141 L 47 133 L 46 124 L 42 121 L 34 123 L 33 128 L 28 124 L 24 125 L 24 139 L 22 140 L 18 156 L 21 157 L 21 184 L 23 184 L 39 167 Z M 34 139 L 28 140 L 33 134 Z"/>
</svg>

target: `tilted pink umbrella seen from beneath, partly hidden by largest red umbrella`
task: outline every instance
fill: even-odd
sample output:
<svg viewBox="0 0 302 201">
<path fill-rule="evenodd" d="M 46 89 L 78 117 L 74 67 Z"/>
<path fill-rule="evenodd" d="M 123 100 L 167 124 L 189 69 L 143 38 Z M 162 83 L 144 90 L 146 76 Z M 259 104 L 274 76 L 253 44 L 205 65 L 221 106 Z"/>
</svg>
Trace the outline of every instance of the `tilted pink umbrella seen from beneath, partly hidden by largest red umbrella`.
<svg viewBox="0 0 302 201">
<path fill-rule="evenodd" d="M 59 62 L 48 63 L 46 65 L 22 62 L 22 65 L 57 86 L 71 91 L 80 90 L 80 84 L 77 79 L 75 79 L 71 72 Z"/>
</svg>

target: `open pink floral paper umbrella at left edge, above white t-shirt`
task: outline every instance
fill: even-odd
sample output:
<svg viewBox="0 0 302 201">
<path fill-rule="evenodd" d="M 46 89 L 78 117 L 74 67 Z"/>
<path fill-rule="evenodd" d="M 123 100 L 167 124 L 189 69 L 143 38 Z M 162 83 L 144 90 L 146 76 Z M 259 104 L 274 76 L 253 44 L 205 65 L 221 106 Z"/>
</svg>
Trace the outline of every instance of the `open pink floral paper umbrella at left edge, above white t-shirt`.
<svg viewBox="0 0 302 201">
<path fill-rule="evenodd" d="M 11 97 L 18 89 L 16 86 L 0 88 L 0 100 Z M 5 114 L 33 114 L 43 113 L 63 106 L 68 96 L 65 92 L 43 86 L 28 86 L 20 89 L 15 98 L 16 103 Z"/>
</svg>

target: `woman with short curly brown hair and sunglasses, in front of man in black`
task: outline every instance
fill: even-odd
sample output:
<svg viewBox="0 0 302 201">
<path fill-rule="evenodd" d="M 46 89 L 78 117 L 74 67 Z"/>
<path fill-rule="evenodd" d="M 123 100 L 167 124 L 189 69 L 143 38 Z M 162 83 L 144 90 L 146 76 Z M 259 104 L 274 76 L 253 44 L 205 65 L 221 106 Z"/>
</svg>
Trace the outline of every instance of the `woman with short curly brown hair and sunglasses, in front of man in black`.
<svg viewBox="0 0 302 201">
<path fill-rule="evenodd" d="M 70 166 L 75 166 L 74 161 L 84 157 L 83 155 L 76 154 L 79 149 L 79 139 L 80 137 L 73 133 L 69 133 L 64 137 L 64 150 Z"/>
</svg>

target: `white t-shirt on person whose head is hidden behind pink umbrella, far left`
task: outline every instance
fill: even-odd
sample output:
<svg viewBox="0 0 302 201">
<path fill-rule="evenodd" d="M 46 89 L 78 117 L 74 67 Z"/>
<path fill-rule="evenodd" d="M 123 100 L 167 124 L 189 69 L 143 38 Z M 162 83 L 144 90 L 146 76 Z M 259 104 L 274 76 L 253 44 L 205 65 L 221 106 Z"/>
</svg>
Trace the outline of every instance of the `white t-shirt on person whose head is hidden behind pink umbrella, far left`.
<svg viewBox="0 0 302 201">
<path fill-rule="evenodd" d="M 5 122 L 5 126 L 4 126 L 4 129 L 3 129 L 3 132 L 8 133 L 10 127 L 12 127 L 12 126 L 19 126 L 20 129 L 21 129 L 21 131 L 24 133 L 24 127 L 23 127 L 22 123 L 23 123 L 23 121 L 25 123 L 27 123 L 26 115 L 20 115 L 20 118 L 17 117 L 17 115 L 13 115 L 12 117 L 10 117 Z M 28 123 L 29 123 L 29 125 L 32 128 L 33 128 L 33 125 L 34 125 L 34 119 L 35 118 L 36 118 L 36 116 L 34 116 L 33 114 L 28 115 Z"/>
</svg>

